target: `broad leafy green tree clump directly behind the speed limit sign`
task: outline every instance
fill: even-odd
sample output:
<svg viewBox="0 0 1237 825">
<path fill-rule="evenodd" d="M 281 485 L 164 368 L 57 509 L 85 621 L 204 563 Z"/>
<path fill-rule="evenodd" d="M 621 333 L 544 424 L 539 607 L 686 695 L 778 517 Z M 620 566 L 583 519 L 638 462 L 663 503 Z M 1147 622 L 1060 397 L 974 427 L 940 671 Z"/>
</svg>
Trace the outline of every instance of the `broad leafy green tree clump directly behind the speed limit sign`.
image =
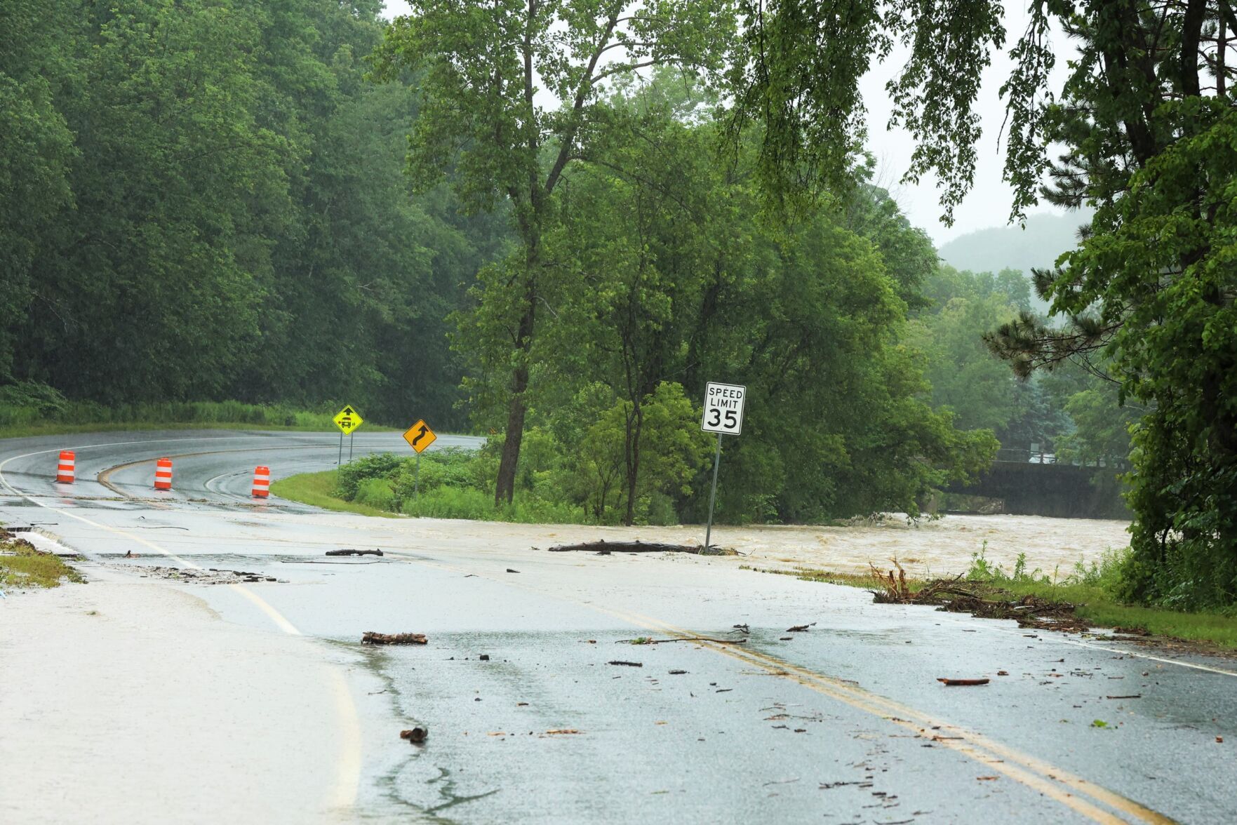
<svg viewBox="0 0 1237 825">
<path fill-rule="evenodd" d="M 902 252 L 922 236 L 883 207 L 880 219 L 818 208 L 762 220 L 755 153 L 714 162 L 717 126 L 693 116 L 708 96 L 680 99 L 683 89 L 666 75 L 626 89 L 607 143 L 568 173 L 546 245 L 534 412 L 570 408 L 580 381 L 606 387 L 625 414 L 627 487 L 638 489 L 657 459 L 642 418 L 653 390 L 679 382 L 694 395 L 724 377 L 748 386 L 750 408 L 743 438 L 726 443 L 721 518 L 918 512 L 996 449 L 990 433 L 960 433 L 920 400 L 899 292 L 915 292 L 922 261 Z M 891 277 L 882 247 L 905 280 Z M 682 516 L 703 518 L 699 497 L 678 500 Z"/>
</svg>

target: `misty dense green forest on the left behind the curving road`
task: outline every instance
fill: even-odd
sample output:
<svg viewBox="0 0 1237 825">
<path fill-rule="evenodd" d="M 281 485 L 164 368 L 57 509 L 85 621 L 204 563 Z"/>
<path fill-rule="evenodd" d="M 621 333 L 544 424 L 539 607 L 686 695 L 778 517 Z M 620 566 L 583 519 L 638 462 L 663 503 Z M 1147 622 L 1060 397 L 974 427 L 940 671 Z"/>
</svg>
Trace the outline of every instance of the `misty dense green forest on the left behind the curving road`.
<svg viewBox="0 0 1237 825">
<path fill-rule="evenodd" d="M 0 4 L 0 375 L 464 425 L 447 315 L 506 223 L 408 197 L 379 10 Z"/>
</svg>

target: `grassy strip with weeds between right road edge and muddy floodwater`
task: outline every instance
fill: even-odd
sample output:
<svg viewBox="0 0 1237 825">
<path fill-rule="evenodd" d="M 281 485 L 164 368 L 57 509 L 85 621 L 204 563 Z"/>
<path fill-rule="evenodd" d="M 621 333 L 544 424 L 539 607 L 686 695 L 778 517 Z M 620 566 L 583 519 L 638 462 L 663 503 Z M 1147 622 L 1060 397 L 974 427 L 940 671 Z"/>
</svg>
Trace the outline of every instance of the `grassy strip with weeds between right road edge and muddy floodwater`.
<svg viewBox="0 0 1237 825">
<path fill-rule="evenodd" d="M 1084 568 L 1081 564 L 1066 576 L 1048 576 L 1039 570 L 1027 571 L 1019 562 L 1013 571 L 1004 571 L 991 564 L 983 550 L 975 554 L 971 568 L 962 581 L 974 585 L 988 599 L 1018 600 L 1035 596 L 1050 602 L 1074 605 L 1074 615 L 1086 620 L 1092 627 L 1119 627 L 1144 631 L 1188 642 L 1213 644 L 1225 649 L 1237 649 L 1237 616 L 1212 612 L 1183 612 L 1160 607 L 1122 604 L 1112 595 L 1115 578 L 1119 575 L 1121 557 L 1107 555 L 1102 562 Z M 865 590 L 881 591 L 883 583 L 871 574 L 833 573 L 813 568 L 792 570 L 762 570 L 758 573 L 793 575 L 805 581 L 841 584 Z M 912 592 L 928 586 L 927 581 L 908 580 Z"/>
</svg>

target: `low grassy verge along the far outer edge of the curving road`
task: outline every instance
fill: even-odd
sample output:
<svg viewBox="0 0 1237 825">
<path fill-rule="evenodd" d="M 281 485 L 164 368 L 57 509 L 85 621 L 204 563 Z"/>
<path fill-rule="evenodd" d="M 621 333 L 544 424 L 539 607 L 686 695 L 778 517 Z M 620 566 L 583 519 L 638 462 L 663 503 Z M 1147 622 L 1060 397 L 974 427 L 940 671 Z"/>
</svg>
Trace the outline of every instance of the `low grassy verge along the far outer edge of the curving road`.
<svg viewBox="0 0 1237 825">
<path fill-rule="evenodd" d="M 2 400 L 0 400 L 2 401 Z M 336 432 L 333 412 L 239 401 L 141 403 L 105 407 L 51 400 L 41 406 L 0 403 L 0 438 L 139 429 L 271 429 Z M 366 422 L 361 432 L 390 432 Z"/>
</svg>

